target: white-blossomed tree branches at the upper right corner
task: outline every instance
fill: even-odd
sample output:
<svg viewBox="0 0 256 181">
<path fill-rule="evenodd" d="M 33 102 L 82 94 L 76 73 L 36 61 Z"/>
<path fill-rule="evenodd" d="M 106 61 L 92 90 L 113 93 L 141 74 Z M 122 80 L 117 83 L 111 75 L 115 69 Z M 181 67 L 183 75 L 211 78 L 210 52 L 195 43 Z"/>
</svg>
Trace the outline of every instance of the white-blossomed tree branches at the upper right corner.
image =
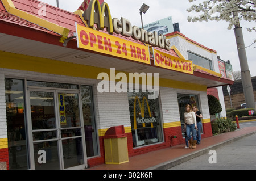
<svg viewBox="0 0 256 181">
<path fill-rule="evenodd" d="M 188 0 L 193 2 L 196 0 Z M 188 22 L 202 22 L 208 20 L 225 20 L 229 22 L 228 29 L 239 24 L 240 21 L 255 22 L 256 18 L 256 0 L 208 0 L 192 5 L 188 12 L 202 12 L 199 16 L 188 16 Z M 255 27 L 247 27 L 247 30 L 256 32 Z M 254 39 L 254 43 L 256 40 Z M 252 44 L 254 44 L 252 43 Z"/>
</svg>

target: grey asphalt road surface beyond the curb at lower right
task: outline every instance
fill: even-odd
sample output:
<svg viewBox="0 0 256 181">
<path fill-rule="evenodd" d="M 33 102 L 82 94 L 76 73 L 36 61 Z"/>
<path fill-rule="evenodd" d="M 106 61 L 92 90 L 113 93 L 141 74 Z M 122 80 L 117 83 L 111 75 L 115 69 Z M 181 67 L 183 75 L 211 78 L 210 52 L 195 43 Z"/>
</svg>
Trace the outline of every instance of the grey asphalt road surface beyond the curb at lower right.
<svg viewBox="0 0 256 181">
<path fill-rule="evenodd" d="M 240 128 L 253 127 L 254 122 L 240 123 Z M 203 141 L 203 140 L 202 140 Z M 203 143 L 202 143 L 203 144 Z M 181 163 L 169 170 L 255 170 L 256 134 L 234 141 L 207 154 Z"/>
</svg>

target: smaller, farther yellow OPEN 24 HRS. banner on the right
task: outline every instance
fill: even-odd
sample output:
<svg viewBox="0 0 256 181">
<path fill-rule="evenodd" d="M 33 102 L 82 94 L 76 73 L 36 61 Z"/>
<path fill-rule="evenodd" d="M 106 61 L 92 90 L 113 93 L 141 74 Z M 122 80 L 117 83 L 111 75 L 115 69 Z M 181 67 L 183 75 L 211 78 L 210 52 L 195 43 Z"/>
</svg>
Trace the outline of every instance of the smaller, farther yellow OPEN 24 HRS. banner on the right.
<svg viewBox="0 0 256 181">
<path fill-rule="evenodd" d="M 160 52 L 154 49 L 154 62 L 155 66 L 161 68 L 181 71 L 188 74 L 193 74 L 193 63 L 192 61 L 185 60 L 183 58 L 174 57 L 170 54 Z"/>
</svg>

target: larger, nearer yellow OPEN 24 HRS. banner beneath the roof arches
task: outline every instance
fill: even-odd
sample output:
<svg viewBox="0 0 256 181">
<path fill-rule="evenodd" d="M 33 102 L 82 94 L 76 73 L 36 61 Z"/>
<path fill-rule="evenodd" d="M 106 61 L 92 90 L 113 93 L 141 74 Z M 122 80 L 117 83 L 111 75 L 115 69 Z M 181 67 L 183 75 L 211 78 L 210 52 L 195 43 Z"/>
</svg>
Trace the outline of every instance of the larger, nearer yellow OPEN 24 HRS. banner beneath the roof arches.
<svg viewBox="0 0 256 181">
<path fill-rule="evenodd" d="M 150 64 L 149 48 L 144 45 L 76 25 L 77 47 Z"/>
</svg>

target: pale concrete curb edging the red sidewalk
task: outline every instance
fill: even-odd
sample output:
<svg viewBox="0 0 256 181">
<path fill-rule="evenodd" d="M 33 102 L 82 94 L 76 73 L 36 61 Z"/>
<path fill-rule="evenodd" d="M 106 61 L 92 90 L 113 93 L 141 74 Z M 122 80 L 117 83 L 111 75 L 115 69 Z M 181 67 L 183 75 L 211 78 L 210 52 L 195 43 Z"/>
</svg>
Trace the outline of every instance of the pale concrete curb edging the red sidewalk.
<svg viewBox="0 0 256 181">
<path fill-rule="evenodd" d="M 189 153 L 189 154 L 186 154 L 184 156 L 172 159 L 171 161 L 160 163 L 159 165 L 149 167 L 145 170 L 168 170 L 171 167 L 174 167 L 176 165 L 180 165 L 181 163 L 187 162 L 190 159 L 193 159 L 193 158 L 199 157 L 200 155 L 209 153 L 210 150 L 214 150 L 214 149 L 220 148 L 221 146 L 228 145 L 228 144 L 230 144 L 234 141 L 240 140 L 240 139 L 245 138 L 247 136 L 251 136 L 255 133 L 256 133 L 256 131 L 253 131 L 253 132 L 250 132 L 250 133 L 243 134 L 241 136 L 230 138 L 229 140 L 226 140 L 226 141 L 220 142 L 218 144 L 208 146 L 207 148 L 203 148 L 201 150 L 195 151 L 193 153 Z"/>
</svg>

